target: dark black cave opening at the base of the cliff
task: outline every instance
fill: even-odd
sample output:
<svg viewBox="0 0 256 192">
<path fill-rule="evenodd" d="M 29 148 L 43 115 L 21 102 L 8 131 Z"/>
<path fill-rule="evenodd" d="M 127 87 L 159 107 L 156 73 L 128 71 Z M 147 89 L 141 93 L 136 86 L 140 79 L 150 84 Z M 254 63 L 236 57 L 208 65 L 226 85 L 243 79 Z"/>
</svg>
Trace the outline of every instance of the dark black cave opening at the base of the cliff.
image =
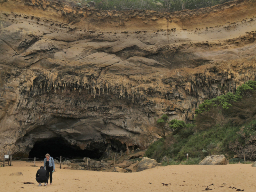
<svg viewBox="0 0 256 192">
<path fill-rule="evenodd" d="M 53 158 L 62 156 L 70 159 L 83 159 L 89 157 L 92 159 L 100 159 L 107 148 L 105 143 L 91 143 L 88 149 L 80 149 L 78 146 L 71 145 L 67 140 L 56 137 L 36 141 L 34 147 L 29 152 L 28 158 L 45 158 L 45 154 L 49 153 Z"/>
</svg>

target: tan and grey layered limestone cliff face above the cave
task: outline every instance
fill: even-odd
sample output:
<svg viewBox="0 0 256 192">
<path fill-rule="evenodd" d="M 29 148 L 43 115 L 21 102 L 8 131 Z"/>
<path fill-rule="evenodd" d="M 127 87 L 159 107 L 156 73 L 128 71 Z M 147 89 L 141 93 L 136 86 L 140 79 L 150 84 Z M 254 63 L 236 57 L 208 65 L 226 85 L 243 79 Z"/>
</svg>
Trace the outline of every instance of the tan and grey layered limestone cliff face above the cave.
<svg viewBox="0 0 256 192">
<path fill-rule="evenodd" d="M 0 4 L 0 155 L 59 136 L 144 149 L 155 117 L 191 121 L 255 80 L 255 0 L 174 13 Z"/>
</svg>

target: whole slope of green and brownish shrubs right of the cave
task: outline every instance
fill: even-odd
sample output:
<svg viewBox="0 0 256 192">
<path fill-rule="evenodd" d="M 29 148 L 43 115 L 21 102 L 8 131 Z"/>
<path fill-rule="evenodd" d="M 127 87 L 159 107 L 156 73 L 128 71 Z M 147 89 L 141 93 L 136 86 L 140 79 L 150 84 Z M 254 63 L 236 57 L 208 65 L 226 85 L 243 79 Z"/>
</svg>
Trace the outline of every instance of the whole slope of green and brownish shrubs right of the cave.
<svg viewBox="0 0 256 192">
<path fill-rule="evenodd" d="M 180 164 L 189 154 L 203 159 L 208 155 L 237 154 L 243 159 L 256 158 L 256 81 L 239 86 L 235 94 L 227 93 L 205 100 L 196 109 L 195 124 L 173 119 L 172 134 L 152 143 L 146 156 L 161 160 L 169 156 L 171 164 Z M 159 123 L 164 122 L 159 120 Z M 168 122 L 168 120 L 166 121 Z M 165 122 L 165 123 L 166 123 Z M 230 155 L 229 158 L 232 158 Z M 240 160 L 240 162 L 243 160 Z M 236 163 L 233 159 L 230 163 Z"/>
</svg>

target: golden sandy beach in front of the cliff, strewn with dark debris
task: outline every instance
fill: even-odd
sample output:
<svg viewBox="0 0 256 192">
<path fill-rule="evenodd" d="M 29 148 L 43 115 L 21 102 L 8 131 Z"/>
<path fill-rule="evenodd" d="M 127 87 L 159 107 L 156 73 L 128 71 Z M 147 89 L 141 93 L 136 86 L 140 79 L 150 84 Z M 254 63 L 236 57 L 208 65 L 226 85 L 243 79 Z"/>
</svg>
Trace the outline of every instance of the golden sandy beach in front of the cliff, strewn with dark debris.
<svg viewBox="0 0 256 192">
<path fill-rule="evenodd" d="M 42 162 L 13 161 L 13 166 L 0 167 L 1 191 L 256 191 L 256 168 L 252 164 L 169 165 L 142 172 L 117 173 L 60 169 L 53 173 L 52 185 L 38 187 L 35 175 Z M 62 165 L 67 168 L 67 165 Z M 10 176 L 22 172 L 22 176 Z M 23 184 L 34 182 L 35 184 Z M 50 182 L 49 182 L 50 183 Z M 211 185 L 213 183 L 213 185 Z M 164 185 L 168 184 L 168 185 Z"/>
</svg>

